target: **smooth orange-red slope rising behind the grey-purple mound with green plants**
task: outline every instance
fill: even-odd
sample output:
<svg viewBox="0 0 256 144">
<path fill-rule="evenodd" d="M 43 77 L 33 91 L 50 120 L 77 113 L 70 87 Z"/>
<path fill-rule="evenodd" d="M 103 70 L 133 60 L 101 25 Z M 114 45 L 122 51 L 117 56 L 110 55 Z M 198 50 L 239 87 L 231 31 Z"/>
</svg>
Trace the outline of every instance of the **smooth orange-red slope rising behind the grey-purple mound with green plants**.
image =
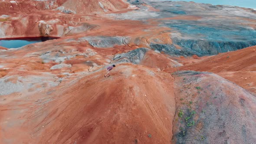
<svg viewBox="0 0 256 144">
<path fill-rule="evenodd" d="M 176 70 L 214 72 L 251 92 L 256 92 L 256 46 L 220 53 L 177 69 L 165 69 L 166 72 Z"/>
</svg>

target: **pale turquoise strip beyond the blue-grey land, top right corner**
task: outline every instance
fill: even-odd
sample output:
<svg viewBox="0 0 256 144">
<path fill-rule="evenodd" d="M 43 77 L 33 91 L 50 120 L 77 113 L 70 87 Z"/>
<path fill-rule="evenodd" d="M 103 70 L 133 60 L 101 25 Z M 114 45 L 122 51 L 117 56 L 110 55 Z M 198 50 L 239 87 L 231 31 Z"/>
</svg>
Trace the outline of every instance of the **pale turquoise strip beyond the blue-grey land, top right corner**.
<svg viewBox="0 0 256 144">
<path fill-rule="evenodd" d="M 170 0 L 179 1 L 179 0 Z M 256 9 L 256 0 L 183 0 L 183 1 L 194 1 L 196 3 L 211 3 L 213 5 L 230 5 L 238 7 L 248 7 Z"/>
</svg>

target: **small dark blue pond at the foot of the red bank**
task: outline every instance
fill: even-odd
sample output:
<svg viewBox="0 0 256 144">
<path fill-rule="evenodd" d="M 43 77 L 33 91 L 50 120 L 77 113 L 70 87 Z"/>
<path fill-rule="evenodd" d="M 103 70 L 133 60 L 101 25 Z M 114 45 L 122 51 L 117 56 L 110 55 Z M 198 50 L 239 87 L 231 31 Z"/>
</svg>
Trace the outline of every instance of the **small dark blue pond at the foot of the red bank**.
<svg viewBox="0 0 256 144">
<path fill-rule="evenodd" d="M 25 37 L 25 38 L 8 38 L 0 39 L 0 46 L 6 48 L 19 48 L 31 43 L 45 42 L 50 39 L 58 39 L 57 37 Z"/>
</svg>

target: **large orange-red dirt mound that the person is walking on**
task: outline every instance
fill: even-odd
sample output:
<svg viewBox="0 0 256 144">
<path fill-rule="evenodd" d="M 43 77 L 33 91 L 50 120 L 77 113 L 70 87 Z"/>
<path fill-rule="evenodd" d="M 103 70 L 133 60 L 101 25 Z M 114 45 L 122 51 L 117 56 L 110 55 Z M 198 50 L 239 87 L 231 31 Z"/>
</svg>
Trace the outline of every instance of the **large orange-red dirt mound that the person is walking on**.
<svg viewBox="0 0 256 144">
<path fill-rule="evenodd" d="M 30 105 L 16 106 L 25 111 L 20 115 L 7 111 L 16 102 L 1 106 L 2 121 L 11 119 L 2 124 L 0 143 L 169 143 L 175 114 L 171 75 L 131 64 L 118 65 L 109 78 L 104 73 L 62 83 L 39 99 L 31 96 Z"/>
</svg>

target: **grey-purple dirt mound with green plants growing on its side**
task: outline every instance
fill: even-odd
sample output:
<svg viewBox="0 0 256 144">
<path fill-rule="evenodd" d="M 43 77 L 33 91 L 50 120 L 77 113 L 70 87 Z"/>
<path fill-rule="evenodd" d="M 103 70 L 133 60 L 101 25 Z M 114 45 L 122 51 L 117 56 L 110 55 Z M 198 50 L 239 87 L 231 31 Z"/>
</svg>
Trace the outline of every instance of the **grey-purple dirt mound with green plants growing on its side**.
<svg viewBox="0 0 256 144">
<path fill-rule="evenodd" d="M 174 74 L 176 144 L 253 144 L 256 95 L 208 72 Z"/>
</svg>

